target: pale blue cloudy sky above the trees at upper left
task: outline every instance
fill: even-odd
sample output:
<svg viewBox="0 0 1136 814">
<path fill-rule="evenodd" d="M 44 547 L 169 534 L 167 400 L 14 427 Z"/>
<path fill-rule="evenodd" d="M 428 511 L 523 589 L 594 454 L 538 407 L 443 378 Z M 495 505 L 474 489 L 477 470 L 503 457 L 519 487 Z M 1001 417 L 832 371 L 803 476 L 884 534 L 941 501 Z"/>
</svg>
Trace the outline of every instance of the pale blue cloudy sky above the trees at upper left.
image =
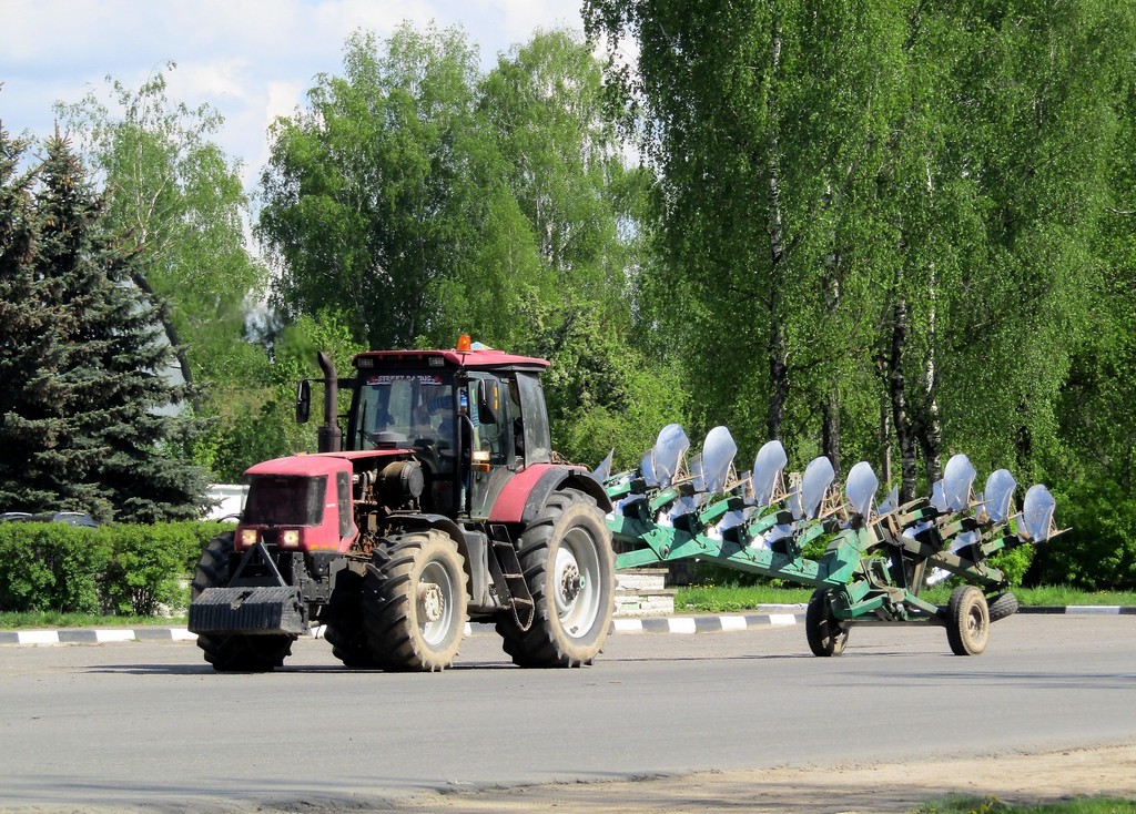
<svg viewBox="0 0 1136 814">
<path fill-rule="evenodd" d="M 53 104 L 108 75 L 131 89 L 167 61 L 167 98 L 208 103 L 225 123 L 212 136 L 242 165 L 251 190 L 268 160 L 266 131 L 290 115 L 319 73 L 342 68 L 343 44 L 410 20 L 461 26 L 483 68 L 537 28 L 580 30 L 582 0 L 0 0 L 0 123 L 9 135 L 55 128 Z"/>
</svg>

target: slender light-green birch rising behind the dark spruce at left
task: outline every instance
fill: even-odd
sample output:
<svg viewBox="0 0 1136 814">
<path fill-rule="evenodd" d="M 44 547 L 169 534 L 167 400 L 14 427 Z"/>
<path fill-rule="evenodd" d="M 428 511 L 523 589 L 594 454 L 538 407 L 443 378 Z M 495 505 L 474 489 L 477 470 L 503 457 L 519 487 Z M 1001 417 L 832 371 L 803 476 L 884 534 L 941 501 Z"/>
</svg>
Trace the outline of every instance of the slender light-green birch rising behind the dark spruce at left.
<svg viewBox="0 0 1136 814">
<path fill-rule="evenodd" d="M 223 119 L 166 95 L 166 62 L 137 89 L 107 77 L 56 106 L 106 188 L 106 220 L 136 247 L 135 284 L 166 303 L 162 325 L 187 380 L 228 381 L 245 301 L 262 293 L 266 267 L 247 250 L 249 202 L 240 166 L 209 141 Z M 184 345 L 184 346 L 183 346 Z"/>
</svg>

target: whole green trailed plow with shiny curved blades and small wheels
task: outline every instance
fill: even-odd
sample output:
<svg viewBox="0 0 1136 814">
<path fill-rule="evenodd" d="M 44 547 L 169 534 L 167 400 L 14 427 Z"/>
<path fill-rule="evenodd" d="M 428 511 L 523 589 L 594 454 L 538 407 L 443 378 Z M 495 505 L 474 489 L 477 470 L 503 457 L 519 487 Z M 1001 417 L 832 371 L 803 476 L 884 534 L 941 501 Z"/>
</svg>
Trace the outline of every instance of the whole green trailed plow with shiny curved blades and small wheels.
<svg viewBox="0 0 1136 814">
<path fill-rule="evenodd" d="M 841 654 L 849 628 L 864 623 L 943 626 L 953 653 L 982 653 L 991 623 L 1018 606 L 989 557 L 1060 534 L 1044 486 L 1031 486 L 1014 512 L 1013 476 L 992 472 L 976 495 L 977 472 L 966 455 L 947 462 L 930 497 L 897 505 L 893 490 L 877 505 L 879 480 L 867 462 L 852 468 L 841 494 L 826 458 L 786 477 L 776 440 L 741 476 L 725 427 L 687 460 L 688 450 L 683 428 L 669 425 L 637 469 L 612 475 L 609 456 L 594 472 L 613 504 L 616 568 L 693 557 L 816 586 L 805 633 L 818 656 Z M 962 585 L 945 606 L 920 597 L 951 574 Z"/>
</svg>

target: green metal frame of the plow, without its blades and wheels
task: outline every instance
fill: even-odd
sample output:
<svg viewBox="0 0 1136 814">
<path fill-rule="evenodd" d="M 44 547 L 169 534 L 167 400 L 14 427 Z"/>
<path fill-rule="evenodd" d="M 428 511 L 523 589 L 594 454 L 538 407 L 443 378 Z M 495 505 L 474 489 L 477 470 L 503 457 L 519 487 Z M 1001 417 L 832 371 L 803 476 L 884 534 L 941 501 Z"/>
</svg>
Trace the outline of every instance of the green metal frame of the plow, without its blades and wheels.
<svg viewBox="0 0 1136 814">
<path fill-rule="evenodd" d="M 1008 581 L 988 557 L 1028 542 L 1019 536 L 1013 518 L 993 523 L 974 506 L 942 513 L 920 500 L 867 522 L 846 506 L 828 517 L 794 520 L 784 500 L 747 506 L 743 486 L 668 525 L 657 518 L 679 498 L 695 495 L 690 479 L 651 488 L 637 472 L 609 478 L 605 488 L 617 506 L 608 517 L 617 570 L 696 559 L 827 588 L 833 615 L 846 623 L 941 623 L 943 609 L 919 597 L 928 569 L 943 569 L 993 594 L 1004 590 Z M 729 512 L 747 509 L 744 522 L 713 531 Z M 768 547 L 751 546 L 751 539 L 777 526 L 787 526 L 791 534 Z M 975 539 L 963 544 L 963 534 Z M 803 556 L 805 547 L 817 543 L 825 545 L 824 554 L 816 560 Z"/>
</svg>

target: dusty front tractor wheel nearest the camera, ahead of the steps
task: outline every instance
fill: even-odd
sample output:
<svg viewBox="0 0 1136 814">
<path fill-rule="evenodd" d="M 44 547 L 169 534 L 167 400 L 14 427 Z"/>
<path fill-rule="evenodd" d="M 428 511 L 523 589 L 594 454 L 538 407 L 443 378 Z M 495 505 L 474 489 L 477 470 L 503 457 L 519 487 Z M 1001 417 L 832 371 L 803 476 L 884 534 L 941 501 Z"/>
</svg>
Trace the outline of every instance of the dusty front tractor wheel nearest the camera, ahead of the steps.
<svg viewBox="0 0 1136 814">
<path fill-rule="evenodd" d="M 466 632 L 466 572 L 453 539 L 436 529 L 390 537 L 362 579 L 369 666 L 445 670 Z"/>
</svg>

